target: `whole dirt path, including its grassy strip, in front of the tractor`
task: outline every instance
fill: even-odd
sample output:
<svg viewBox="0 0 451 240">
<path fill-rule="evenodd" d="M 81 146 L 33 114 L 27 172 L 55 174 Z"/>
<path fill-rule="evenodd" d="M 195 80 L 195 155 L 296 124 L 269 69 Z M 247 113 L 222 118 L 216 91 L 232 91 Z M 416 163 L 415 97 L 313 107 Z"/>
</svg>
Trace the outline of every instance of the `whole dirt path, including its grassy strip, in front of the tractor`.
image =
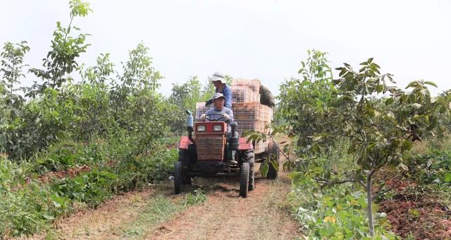
<svg viewBox="0 0 451 240">
<path fill-rule="evenodd" d="M 84 210 L 55 224 L 61 239 L 295 239 L 299 225 L 290 217 L 290 181 L 281 174 L 256 179 L 247 198 L 238 197 L 237 179 L 194 179 L 188 193 L 173 196 L 171 183 L 116 196 L 96 210 Z M 192 205 L 197 191 L 206 198 Z M 42 239 L 44 236 L 35 236 Z"/>
</svg>

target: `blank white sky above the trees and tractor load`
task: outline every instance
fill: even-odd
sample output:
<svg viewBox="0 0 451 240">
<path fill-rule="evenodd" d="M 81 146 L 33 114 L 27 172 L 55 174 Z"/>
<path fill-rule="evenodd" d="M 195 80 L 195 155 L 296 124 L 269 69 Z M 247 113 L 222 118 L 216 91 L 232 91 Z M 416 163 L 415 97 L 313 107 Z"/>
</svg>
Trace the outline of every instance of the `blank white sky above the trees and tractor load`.
<svg viewBox="0 0 451 240">
<path fill-rule="evenodd" d="M 171 83 L 190 76 L 206 80 L 214 71 L 259 78 L 274 93 L 296 76 L 307 49 L 328 52 L 330 65 L 374 57 L 398 85 L 432 80 L 437 93 L 451 88 L 451 1 L 89 1 L 93 13 L 74 25 L 92 36 L 79 62 L 92 65 L 111 53 L 120 70 L 128 50 L 150 48 L 154 67 Z M 39 67 L 56 21 L 68 24 L 68 1 L 0 1 L 0 44 L 26 40 L 26 64 Z M 335 71 L 335 77 L 338 73 Z M 30 85 L 27 78 L 25 85 Z"/>
</svg>

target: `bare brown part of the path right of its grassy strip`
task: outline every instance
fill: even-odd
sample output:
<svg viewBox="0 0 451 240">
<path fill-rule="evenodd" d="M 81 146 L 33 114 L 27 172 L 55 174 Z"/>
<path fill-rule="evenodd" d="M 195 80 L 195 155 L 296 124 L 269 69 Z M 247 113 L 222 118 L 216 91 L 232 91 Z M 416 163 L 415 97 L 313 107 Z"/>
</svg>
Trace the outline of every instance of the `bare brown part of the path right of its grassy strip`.
<svg viewBox="0 0 451 240">
<path fill-rule="evenodd" d="M 280 175 L 256 179 L 247 198 L 238 197 L 236 179 L 201 180 L 216 189 L 206 203 L 181 212 L 145 239 L 297 239 L 300 226 L 286 201 L 291 183 L 286 174 Z"/>
</svg>

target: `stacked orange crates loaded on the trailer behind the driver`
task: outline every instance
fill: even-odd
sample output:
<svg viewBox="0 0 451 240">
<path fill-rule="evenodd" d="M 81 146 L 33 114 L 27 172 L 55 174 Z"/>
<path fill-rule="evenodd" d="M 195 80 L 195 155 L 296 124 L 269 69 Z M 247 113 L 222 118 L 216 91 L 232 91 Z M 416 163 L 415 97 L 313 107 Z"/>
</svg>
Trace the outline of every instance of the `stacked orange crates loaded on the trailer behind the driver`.
<svg viewBox="0 0 451 240">
<path fill-rule="evenodd" d="M 269 130 L 265 127 L 271 123 L 273 110 L 260 103 L 260 80 L 233 79 L 230 88 L 232 90 L 233 118 L 237 121 L 237 132 L 240 133 L 240 136 L 249 130 L 268 132 Z M 204 102 L 198 102 L 196 119 L 200 119 L 200 116 L 205 114 L 208 109 Z M 254 147 L 256 153 L 265 152 L 268 143 L 257 143 Z"/>
</svg>

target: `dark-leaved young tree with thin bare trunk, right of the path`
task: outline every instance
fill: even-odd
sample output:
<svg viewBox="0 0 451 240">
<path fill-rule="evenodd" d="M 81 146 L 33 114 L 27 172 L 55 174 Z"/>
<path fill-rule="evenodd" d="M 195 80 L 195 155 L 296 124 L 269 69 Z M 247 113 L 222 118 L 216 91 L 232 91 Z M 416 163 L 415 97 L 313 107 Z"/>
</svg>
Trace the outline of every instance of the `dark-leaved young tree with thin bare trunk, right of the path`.
<svg viewBox="0 0 451 240">
<path fill-rule="evenodd" d="M 379 66 L 368 59 L 359 71 L 350 65 L 337 68 L 340 79 L 334 84 L 338 97 L 339 119 L 335 126 L 350 140 L 348 153 L 354 155 L 357 170 L 350 180 L 363 184 L 368 200 L 370 235 L 373 236 L 371 181 L 373 175 L 386 165 L 404 167 L 404 153 L 412 143 L 421 140 L 424 133 L 437 126 L 435 109 L 439 102 L 431 101 L 427 85 L 435 83 L 417 80 L 409 83 L 404 92 L 388 85 L 395 83 L 392 75 L 379 72 Z M 374 97 L 383 97 L 388 109 L 376 108 Z M 357 100 L 357 101 L 356 101 Z M 328 133 L 325 133 L 326 135 Z"/>
</svg>

